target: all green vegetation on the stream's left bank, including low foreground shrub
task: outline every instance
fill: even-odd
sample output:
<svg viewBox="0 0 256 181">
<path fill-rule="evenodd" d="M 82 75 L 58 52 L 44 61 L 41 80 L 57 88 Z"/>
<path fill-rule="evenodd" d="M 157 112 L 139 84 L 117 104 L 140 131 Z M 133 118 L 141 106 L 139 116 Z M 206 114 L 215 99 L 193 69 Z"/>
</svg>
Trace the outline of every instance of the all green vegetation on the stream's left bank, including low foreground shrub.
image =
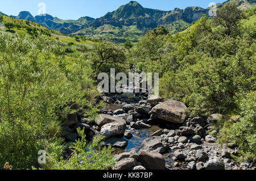
<svg viewBox="0 0 256 181">
<path fill-rule="evenodd" d="M 97 117 L 92 60 L 85 56 L 90 50 L 75 43 L 63 45 L 41 31 L 35 34 L 35 29 L 15 30 L 14 34 L 0 31 L 0 165 L 8 163 L 13 169 L 112 166 L 112 149 L 98 146 L 102 137 L 88 144 L 78 131 L 81 139 L 73 145 L 60 137 L 65 118 L 77 111 L 69 103 L 88 107 L 85 115 L 92 121 Z M 75 150 L 70 158 L 63 157 L 67 148 Z M 39 150 L 47 151 L 46 165 L 38 164 Z M 79 164 L 79 160 L 84 161 Z"/>
</svg>

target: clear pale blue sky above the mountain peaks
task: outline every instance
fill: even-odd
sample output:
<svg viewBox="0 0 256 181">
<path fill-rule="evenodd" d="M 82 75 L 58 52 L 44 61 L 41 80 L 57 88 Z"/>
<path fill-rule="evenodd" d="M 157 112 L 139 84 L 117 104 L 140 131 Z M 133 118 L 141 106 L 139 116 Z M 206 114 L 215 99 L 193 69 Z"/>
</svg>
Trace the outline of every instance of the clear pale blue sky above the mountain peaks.
<svg viewBox="0 0 256 181">
<path fill-rule="evenodd" d="M 209 3 L 225 0 L 138 0 L 143 7 L 159 10 L 184 9 L 188 6 L 208 7 Z M 46 4 L 46 13 L 60 19 L 79 19 L 81 16 L 100 18 L 130 0 L 0 0 L 0 11 L 7 15 L 18 15 L 20 11 L 30 11 L 38 15 L 40 2 Z"/>
</svg>

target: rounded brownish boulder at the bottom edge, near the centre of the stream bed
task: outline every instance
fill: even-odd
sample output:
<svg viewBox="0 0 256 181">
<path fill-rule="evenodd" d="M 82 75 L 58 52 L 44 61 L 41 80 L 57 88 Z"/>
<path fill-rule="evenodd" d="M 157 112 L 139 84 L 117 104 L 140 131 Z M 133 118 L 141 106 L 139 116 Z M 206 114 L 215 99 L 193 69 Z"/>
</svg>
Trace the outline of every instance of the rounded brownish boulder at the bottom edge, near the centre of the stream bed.
<svg viewBox="0 0 256 181">
<path fill-rule="evenodd" d="M 164 170 L 166 167 L 162 154 L 156 151 L 140 150 L 139 161 L 142 163 L 142 166 L 150 170 Z"/>
</svg>

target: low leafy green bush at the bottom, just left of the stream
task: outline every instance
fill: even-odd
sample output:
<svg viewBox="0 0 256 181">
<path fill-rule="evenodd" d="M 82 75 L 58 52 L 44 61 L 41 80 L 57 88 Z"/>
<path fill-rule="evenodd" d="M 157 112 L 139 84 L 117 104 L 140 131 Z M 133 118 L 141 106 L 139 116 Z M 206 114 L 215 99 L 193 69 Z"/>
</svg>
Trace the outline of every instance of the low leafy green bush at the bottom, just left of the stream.
<svg viewBox="0 0 256 181">
<path fill-rule="evenodd" d="M 59 147 L 55 142 L 48 146 L 47 163 L 42 164 L 43 169 L 51 170 L 105 170 L 114 165 L 113 149 L 110 147 L 100 148 L 102 136 L 94 137 L 91 144 L 85 139 L 84 130 L 77 129 L 81 137 L 69 146 L 75 149 L 68 161 L 61 157 L 63 147 Z M 59 140 L 60 141 L 60 140 Z"/>
</svg>

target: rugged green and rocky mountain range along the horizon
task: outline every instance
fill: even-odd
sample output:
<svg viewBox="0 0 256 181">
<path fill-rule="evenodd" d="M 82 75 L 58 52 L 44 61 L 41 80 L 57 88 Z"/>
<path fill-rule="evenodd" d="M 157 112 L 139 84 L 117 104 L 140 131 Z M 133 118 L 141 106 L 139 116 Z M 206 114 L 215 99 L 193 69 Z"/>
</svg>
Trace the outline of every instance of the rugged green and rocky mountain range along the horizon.
<svg viewBox="0 0 256 181">
<path fill-rule="evenodd" d="M 218 3 L 222 7 L 225 3 L 236 1 L 238 6 L 251 5 L 256 0 L 228 0 Z M 184 10 L 175 8 L 172 11 L 162 11 L 144 8 L 136 1 L 130 1 L 113 12 L 108 12 L 101 18 L 81 17 L 77 20 L 62 20 L 48 14 L 32 16 L 28 11 L 22 11 L 16 19 L 27 19 L 50 29 L 65 34 L 89 36 L 133 37 L 142 36 L 146 31 L 164 25 L 171 33 L 187 28 L 190 23 L 209 15 L 209 9 L 193 6 Z M 3 14 L 0 12 L 0 14 Z"/>
</svg>

